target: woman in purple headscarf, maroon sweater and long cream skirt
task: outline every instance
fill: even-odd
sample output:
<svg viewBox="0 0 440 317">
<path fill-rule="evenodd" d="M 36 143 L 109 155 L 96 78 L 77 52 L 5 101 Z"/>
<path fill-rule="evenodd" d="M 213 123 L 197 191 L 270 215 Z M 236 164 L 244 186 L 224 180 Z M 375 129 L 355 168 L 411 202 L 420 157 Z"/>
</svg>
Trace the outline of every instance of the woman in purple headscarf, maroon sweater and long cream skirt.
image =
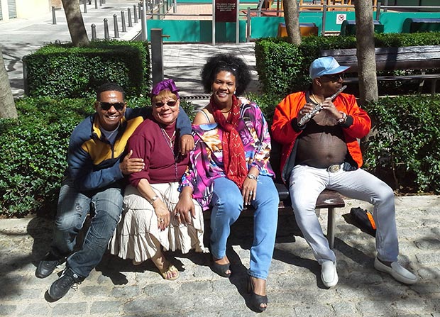
<svg viewBox="0 0 440 317">
<path fill-rule="evenodd" d="M 128 177 L 123 216 L 111 240 L 111 253 L 132 259 L 134 265 L 151 259 L 164 279 L 177 279 L 179 271 L 163 250 L 205 252 L 202 208 L 195 200 L 180 199 L 177 191 L 189 157 L 180 149 L 187 145 L 176 142 L 176 120 L 182 109 L 172 79 L 153 87 L 151 104 L 152 115 L 127 143 L 127 152 L 142 158 L 145 166 Z"/>
</svg>

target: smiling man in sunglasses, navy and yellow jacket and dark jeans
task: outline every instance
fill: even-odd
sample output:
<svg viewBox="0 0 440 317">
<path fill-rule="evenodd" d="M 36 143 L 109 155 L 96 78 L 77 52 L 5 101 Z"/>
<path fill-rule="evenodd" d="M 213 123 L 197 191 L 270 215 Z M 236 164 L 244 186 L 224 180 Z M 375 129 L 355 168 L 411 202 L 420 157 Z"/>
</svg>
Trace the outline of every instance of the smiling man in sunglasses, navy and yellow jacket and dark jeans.
<svg viewBox="0 0 440 317">
<path fill-rule="evenodd" d="M 124 151 L 128 138 L 151 109 L 126 108 L 125 93 L 114 83 L 97 89 L 94 108 L 96 113 L 79 123 L 70 137 L 53 243 L 35 270 L 36 277 L 45 278 L 66 261 L 60 278 L 48 290 L 53 300 L 65 296 L 99 264 L 121 216 L 123 178 L 144 167 L 142 159 L 131 157 L 131 152 L 125 155 Z M 177 118 L 177 130 L 181 135 L 180 154 L 186 155 L 194 148 L 194 138 L 183 109 Z M 84 243 L 74 252 L 77 234 L 90 211 L 93 218 Z"/>
</svg>

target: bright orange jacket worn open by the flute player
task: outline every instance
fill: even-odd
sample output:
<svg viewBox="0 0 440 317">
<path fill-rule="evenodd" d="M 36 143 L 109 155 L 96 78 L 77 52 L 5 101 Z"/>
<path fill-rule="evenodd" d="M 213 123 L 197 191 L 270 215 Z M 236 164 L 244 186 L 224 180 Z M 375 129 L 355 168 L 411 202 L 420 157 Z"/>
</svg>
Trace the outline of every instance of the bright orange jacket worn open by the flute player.
<svg viewBox="0 0 440 317">
<path fill-rule="evenodd" d="M 305 91 L 295 92 L 282 99 L 275 109 L 272 123 L 272 136 L 275 141 L 282 145 L 281 152 L 281 175 L 284 182 L 288 182 L 290 172 L 295 166 L 294 149 L 295 141 L 302 130 L 297 132 L 292 128 L 291 121 L 297 118 L 299 110 L 306 104 Z M 363 138 L 368 134 L 371 128 L 371 121 L 368 114 L 359 108 L 355 96 L 351 94 L 339 94 L 333 101 L 336 109 L 345 112 L 351 116 L 353 123 L 347 128 L 342 128 L 343 135 L 348 148 L 348 153 L 353 161 L 361 167 L 362 152 L 359 147 L 358 138 Z M 350 120 L 351 121 L 351 120 Z M 293 155 L 290 157 L 290 155 Z M 287 159 L 289 159 L 286 165 Z"/>
</svg>

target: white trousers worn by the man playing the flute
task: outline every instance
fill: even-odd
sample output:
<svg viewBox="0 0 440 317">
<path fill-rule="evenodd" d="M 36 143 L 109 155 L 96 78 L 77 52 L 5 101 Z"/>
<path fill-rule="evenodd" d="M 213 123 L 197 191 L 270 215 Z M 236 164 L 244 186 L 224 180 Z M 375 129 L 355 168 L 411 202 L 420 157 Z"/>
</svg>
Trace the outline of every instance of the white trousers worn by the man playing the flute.
<svg viewBox="0 0 440 317">
<path fill-rule="evenodd" d="M 343 196 L 373 204 L 378 257 L 383 261 L 397 261 L 399 242 L 394 193 L 385 182 L 363 169 L 350 172 L 340 169 L 339 172 L 331 173 L 326 169 L 297 165 L 290 174 L 292 208 L 299 229 L 320 265 L 326 260 L 336 261 L 315 213 L 317 198 L 324 189 L 339 191 Z"/>
</svg>

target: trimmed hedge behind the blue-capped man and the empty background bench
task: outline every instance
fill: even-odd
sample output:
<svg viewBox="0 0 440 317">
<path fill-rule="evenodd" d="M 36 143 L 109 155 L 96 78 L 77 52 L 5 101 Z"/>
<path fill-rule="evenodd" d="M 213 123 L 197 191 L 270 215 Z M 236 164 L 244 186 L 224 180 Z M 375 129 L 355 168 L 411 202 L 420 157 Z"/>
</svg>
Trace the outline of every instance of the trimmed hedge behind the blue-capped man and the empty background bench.
<svg viewBox="0 0 440 317">
<path fill-rule="evenodd" d="M 440 45 L 440 33 L 375 34 L 375 47 Z M 285 96 L 309 86 L 309 65 L 321 50 L 356 48 L 354 36 L 309 36 L 299 46 L 286 38 L 263 38 L 255 42 L 256 69 L 263 92 Z M 382 83 L 380 83 L 382 84 Z"/>
</svg>

